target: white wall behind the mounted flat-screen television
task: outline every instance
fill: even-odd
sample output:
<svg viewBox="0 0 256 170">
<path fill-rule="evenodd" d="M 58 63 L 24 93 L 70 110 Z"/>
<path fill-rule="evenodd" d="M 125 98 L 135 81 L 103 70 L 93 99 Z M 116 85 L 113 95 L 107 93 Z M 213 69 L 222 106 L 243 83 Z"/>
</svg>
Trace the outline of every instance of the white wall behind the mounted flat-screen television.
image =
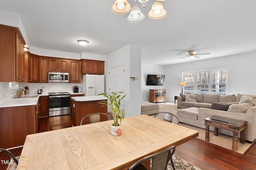
<svg viewBox="0 0 256 170">
<path fill-rule="evenodd" d="M 165 87 L 165 86 L 146 86 L 146 80 L 147 80 L 148 74 L 164 74 L 164 66 L 141 63 L 141 93 L 142 93 L 141 101 L 149 101 L 149 89 L 164 89 Z M 164 85 L 166 85 L 166 78 L 164 80 Z"/>
</svg>

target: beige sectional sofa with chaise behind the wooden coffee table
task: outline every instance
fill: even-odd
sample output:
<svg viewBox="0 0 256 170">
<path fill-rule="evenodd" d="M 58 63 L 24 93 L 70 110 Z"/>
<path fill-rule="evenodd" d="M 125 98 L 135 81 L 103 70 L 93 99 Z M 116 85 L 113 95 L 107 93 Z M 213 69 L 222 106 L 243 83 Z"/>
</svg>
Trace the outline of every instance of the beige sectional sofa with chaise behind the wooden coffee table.
<svg viewBox="0 0 256 170">
<path fill-rule="evenodd" d="M 204 94 L 205 95 L 205 94 Z M 232 95 L 233 96 L 233 95 Z M 244 97 L 242 97 L 244 96 Z M 214 96 L 216 97 L 216 96 Z M 226 99 L 231 96 L 226 96 Z M 224 96 L 218 96 L 218 102 L 220 98 L 224 99 Z M 222 101 L 222 99 L 220 101 Z M 225 99 L 225 100 L 226 100 Z M 240 119 L 247 121 L 247 127 L 246 127 L 246 137 L 245 140 L 249 143 L 253 142 L 254 139 L 256 139 L 256 98 L 252 95 L 243 95 L 243 94 L 237 94 L 235 96 L 235 102 L 219 102 L 219 104 L 211 104 L 211 103 L 204 103 L 203 106 L 206 106 L 208 104 L 208 107 L 195 107 L 198 105 L 191 104 L 192 107 L 187 107 L 188 105 L 183 105 L 180 102 L 181 107 L 186 107 L 185 109 L 180 109 L 177 111 L 177 115 L 179 118 L 179 121 L 182 123 L 186 123 L 189 125 L 201 127 L 205 129 L 204 125 L 204 119 L 206 117 L 211 117 L 213 115 L 219 115 L 224 117 L 230 117 L 234 119 Z M 215 99 L 216 100 L 216 99 Z M 232 100 L 233 101 L 233 100 Z M 192 102 L 193 103 L 193 102 Z M 194 102 L 194 104 L 197 102 Z M 235 103 L 235 104 L 233 104 Z M 230 105 L 231 104 L 231 105 Z M 224 110 L 218 110 L 218 108 L 214 108 L 211 106 L 227 106 L 227 111 Z M 214 127 L 210 127 L 210 130 L 214 131 Z M 230 131 L 226 131 L 224 129 L 219 129 L 219 133 L 223 133 L 226 135 L 233 136 L 233 133 Z M 240 134 L 238 136 L 240 138 Z"/>
</svg>

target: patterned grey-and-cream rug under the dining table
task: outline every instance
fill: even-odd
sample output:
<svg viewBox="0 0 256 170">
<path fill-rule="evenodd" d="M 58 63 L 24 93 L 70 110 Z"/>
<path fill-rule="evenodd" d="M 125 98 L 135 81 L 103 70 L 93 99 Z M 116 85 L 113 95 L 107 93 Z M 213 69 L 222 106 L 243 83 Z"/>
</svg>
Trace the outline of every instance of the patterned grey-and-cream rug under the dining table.
<svg viewBox="0 0 256 170">
<path fill-rule="evenodd" d="M 16 159 L 19 160 L 20 156 L 17 156 Z M 176 155 L 172 156 L 172 162 L 174 164 L 175 170 L 201 170 L 200 168 L 194 166 L 190 162 L 187 162 L 186 160 Z M 10 164 L 7 170 L 16 170 L 16 168 L 17 168 L 17 165 L 14 163 L 14 164 Z M 170 161 L 168 162 L 167 170 L 173 170 L 172 163 Z"/>
</svg>

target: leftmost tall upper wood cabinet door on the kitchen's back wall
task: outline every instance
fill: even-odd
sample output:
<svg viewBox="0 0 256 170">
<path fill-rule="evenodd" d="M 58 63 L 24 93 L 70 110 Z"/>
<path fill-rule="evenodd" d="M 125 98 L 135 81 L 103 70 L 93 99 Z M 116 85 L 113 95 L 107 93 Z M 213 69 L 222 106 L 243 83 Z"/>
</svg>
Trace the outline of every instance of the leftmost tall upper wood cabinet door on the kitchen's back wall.
<svg viewBox="0 0 256 170">
<path fill-rule="evenodd" d="M 39 57 L 38 55 L 29 54 L 29 79 L 30 83 L 39 83 Z"/>
</svg>

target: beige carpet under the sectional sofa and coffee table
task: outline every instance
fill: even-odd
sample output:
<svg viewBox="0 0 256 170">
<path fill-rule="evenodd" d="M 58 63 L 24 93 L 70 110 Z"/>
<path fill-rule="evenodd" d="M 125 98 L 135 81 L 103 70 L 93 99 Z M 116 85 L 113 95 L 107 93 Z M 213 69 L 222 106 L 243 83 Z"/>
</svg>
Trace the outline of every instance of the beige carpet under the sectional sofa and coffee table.
<svg viewBox="0 0 256 170">
<path fill-rule="evenodd" d="M 159 111 L 167 111 L 177 115 L 177 111 L 179 110 L 177 105 L 174 105 L 171 103 L 158 103 L 158 104 L 159 104 Z M 177 123 L 177 120 L 175 118 L 173 119 L 173 123 Z M 197 138 L 205 141 L 205 129 L 184 124 L 184 123 L 180 123 L 179 125 L 198 131 L 199 136 Z M 232 141 L 233 141 L 233 137 L 231 136 L 224 135 L 221 133 L 219 133 L 218 136 L 214 136 L 214 131 L 210 131 L 210 141 L 208 143 L 212 143 L 214 145 L 218 145 L 228 150 L 232 150 Z M 248 149 L 250 149 L 251 146 L 252 144 L 250 143 L 245 143 L 245 144 L 240 143 L 240 139 L 238 139 L 237 153 L 244 154 Z"/>
</svg>

